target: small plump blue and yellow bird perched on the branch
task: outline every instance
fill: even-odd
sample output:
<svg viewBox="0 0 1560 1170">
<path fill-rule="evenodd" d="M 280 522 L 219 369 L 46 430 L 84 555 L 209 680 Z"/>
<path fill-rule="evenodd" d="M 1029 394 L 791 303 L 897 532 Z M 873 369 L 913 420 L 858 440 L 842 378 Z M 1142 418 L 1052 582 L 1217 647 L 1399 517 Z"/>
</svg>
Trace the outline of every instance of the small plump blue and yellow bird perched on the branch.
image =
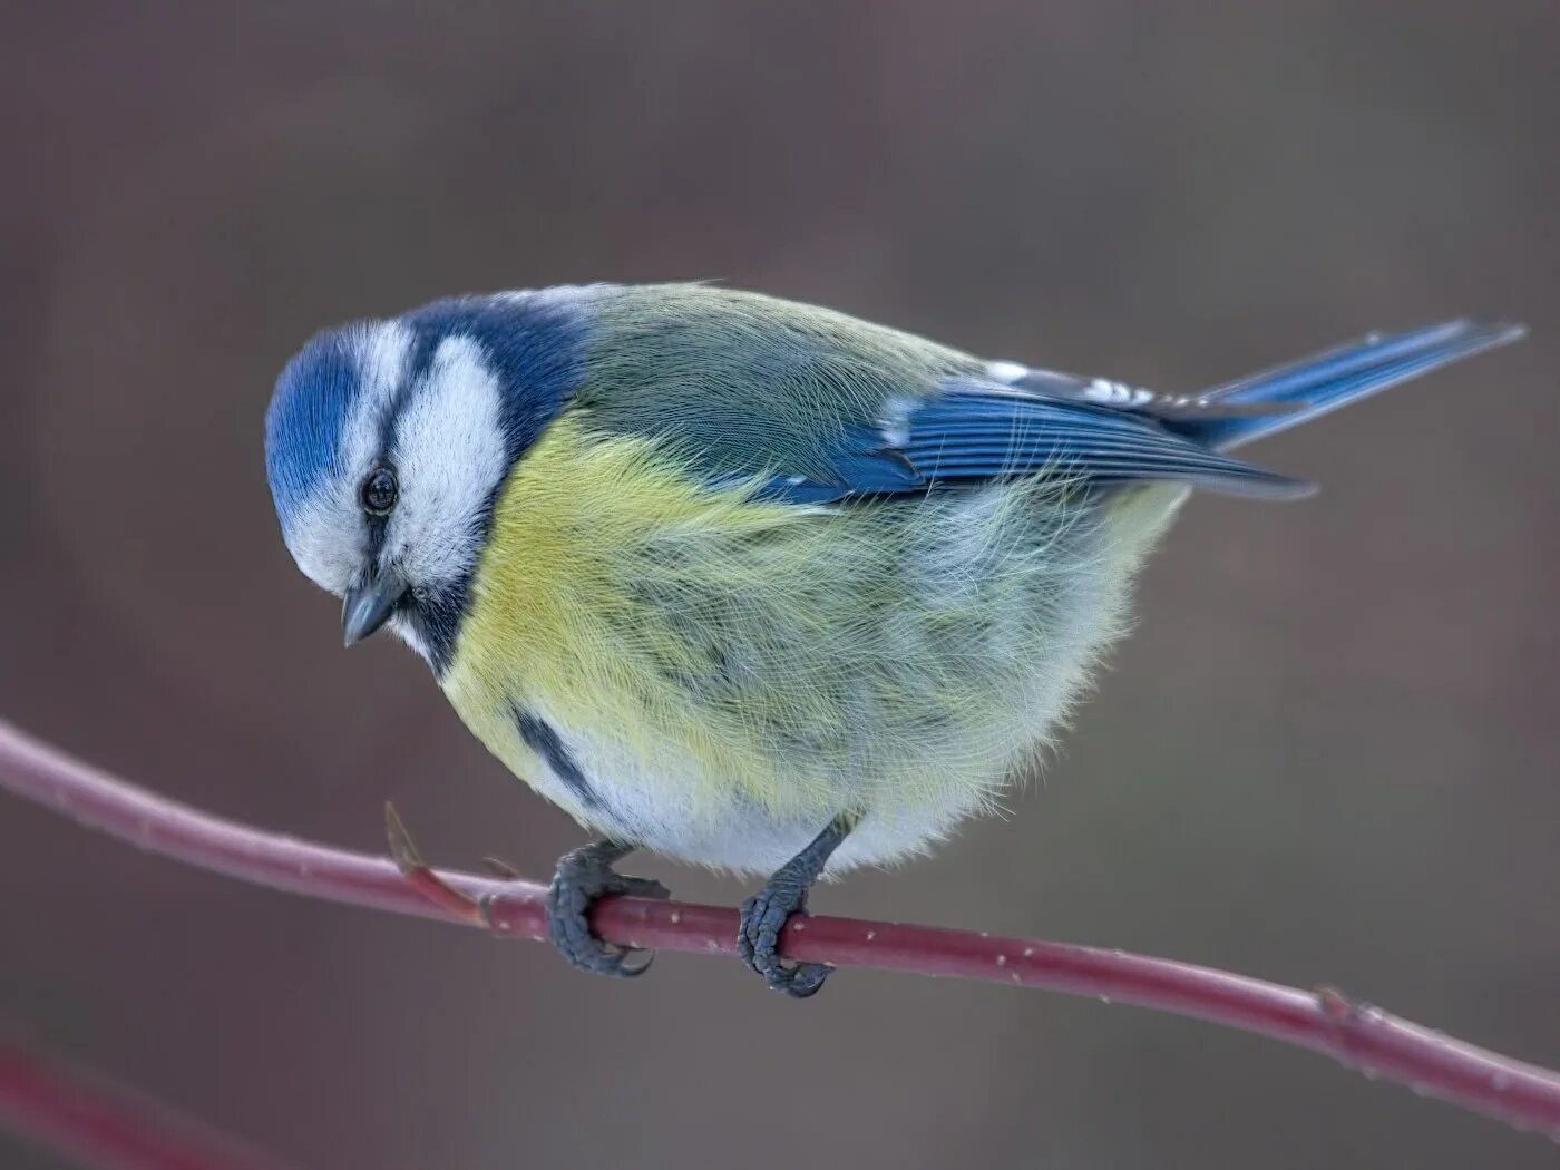
<svg viewBox="0 0 1560 1170">
<path fill-rule="evenodd" d="M 1178 395 L 987 360 L 713 282 L 446 296 L 326 329 L 265 412 L 298 568 L 348 646 L 388 629 L 465 725 L 593 839 L 557 863 L 576 967 L 594 900 L 666 897 L 651 850 L 764 877 L 738 952 L 813 885 L 928 852 L 1044 760 L 1195 490 L 1309 495 L 1231 452 L 1521 326 L 1368 334 Z"/>
</svg>

